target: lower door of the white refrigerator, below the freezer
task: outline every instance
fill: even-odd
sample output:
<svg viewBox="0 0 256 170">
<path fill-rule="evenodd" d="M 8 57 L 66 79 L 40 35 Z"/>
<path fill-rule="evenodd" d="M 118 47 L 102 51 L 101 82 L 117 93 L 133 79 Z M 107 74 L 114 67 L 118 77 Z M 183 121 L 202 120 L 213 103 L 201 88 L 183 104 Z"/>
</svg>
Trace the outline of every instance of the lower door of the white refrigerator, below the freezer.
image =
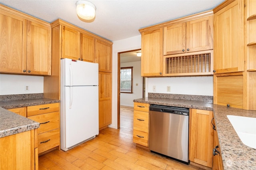
<svg viewBox="0 0 256 170">
<path fill-rule="evenodd" d="M 99 134 L 98 86 L 64 87 L 63 93 L 60 148 L 66 151 Z"/>
</svg>

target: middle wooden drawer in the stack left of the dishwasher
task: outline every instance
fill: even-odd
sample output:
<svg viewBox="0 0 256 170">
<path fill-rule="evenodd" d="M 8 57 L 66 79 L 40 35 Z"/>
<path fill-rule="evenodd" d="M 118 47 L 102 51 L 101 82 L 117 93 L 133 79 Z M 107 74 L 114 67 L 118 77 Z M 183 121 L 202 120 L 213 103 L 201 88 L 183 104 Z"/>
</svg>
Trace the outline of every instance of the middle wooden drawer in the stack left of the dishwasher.
<svg viewBox="0 0 256 170">
<path fill-rule="evenodd" d="M 148 112 L 134 110 L 133 129 L 148 132 Z"/>
</svg>

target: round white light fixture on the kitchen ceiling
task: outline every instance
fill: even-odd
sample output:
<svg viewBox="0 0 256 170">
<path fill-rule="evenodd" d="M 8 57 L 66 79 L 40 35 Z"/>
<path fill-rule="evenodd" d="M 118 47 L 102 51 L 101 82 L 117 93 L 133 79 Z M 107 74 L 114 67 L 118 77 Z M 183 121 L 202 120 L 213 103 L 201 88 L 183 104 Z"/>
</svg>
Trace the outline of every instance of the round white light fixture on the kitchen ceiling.
<svg viewBox="0 0 256 170">
<path fill-rule="evenodd" d="M 92 20 L 95 17 L 96 7 L 92 2 L 79 0 L 76 2 L 76 13 L 84 20 Z"/>
</svg>

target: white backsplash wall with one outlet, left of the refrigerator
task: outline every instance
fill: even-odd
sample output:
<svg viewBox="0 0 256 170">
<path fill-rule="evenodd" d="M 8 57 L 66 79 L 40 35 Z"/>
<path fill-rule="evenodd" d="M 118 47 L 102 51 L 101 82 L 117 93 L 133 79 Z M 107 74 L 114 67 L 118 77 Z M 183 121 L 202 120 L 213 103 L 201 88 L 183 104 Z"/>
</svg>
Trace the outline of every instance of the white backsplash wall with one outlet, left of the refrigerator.
<svg viewBox="0 0 256 170">
<path fill-rule="evenodd" d="M 25 85 L 29 91 L 25 91 Z M 44 93 L 44 77 L 33 75 L 0 74 L 0 95 Z"/>
</svg>

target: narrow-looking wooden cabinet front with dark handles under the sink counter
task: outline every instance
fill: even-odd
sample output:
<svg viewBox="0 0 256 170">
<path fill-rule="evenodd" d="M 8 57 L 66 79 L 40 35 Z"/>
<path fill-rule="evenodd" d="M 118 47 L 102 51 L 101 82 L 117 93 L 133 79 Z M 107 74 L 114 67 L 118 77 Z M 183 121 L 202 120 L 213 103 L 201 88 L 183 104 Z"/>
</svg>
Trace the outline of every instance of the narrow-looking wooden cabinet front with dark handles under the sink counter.
<svg viewBox="0 0 256 170">
<path fill-rule="evenodd" d="M 224 170 L 217 130 L 214 130 L 212 170 Z"/>
</svg>

